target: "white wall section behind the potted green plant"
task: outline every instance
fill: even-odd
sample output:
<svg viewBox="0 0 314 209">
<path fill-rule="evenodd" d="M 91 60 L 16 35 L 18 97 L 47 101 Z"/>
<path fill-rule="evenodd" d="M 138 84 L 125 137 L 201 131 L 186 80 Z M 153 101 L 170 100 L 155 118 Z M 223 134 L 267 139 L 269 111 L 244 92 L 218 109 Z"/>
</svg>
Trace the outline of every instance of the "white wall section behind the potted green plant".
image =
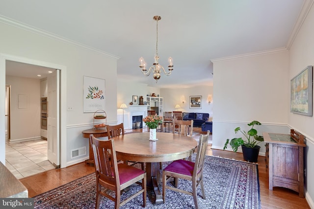
<svg viewBox="0 0 314 209">
<path fill-rule="evenodd" d="M 246 124 L 252 120 L 262 123 L 256 127 L 260 135 L 270 130 L 288 134 L 287 50 L 215 60 L 213 67 L 212 148 L 222 149 L 226 139 L 238 136 L 236 127 L 248 130 Z M 260 145 L 264 155 L 264 144 Z"/>
</svg>

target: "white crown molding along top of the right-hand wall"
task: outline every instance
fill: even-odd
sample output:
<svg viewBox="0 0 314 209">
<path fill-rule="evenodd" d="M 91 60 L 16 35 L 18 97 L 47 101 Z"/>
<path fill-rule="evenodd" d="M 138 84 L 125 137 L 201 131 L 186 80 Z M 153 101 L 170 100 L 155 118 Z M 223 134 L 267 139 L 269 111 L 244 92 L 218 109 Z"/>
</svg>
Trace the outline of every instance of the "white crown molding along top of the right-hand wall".
<svg viewBox="0 0 314 209">
<path fill-rule="evenodd" d="M 314 0 L 305 0 L 303 2 L 301 11 L 299 13 L 299 16 L 298 16 L 298 18 L 297 18 L 297 20 L 296 20 L 296 22 L 295 22 L 295 24 L 294 24 L 294 26 L 292 28 L 291 34 L 289 36 L 289 40 L 288 40 L 288 43 L 287 43 L 287 46 L 286 46 L 286 48 L 288 50 L 292 46 L 295 37 L 299 33 L 300 28 L 301 28 L 302 24 L 304 23 L 304 20 L 308 16 L 313 3 L 314 3 Z"/>
</svg>

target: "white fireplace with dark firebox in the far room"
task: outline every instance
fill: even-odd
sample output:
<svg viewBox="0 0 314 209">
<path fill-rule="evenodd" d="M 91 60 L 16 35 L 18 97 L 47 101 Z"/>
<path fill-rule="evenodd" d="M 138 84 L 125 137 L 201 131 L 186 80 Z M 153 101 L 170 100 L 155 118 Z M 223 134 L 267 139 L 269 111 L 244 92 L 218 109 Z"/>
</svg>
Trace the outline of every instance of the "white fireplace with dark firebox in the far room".
<svg viewBox="0 0 314 209">
<path fill-rule="evenodd" d="M 136 126 L 136 122 L 140 122 L 139 127 L 145 127 L 145 123 L 143 122 L 143 118 L 147 116 L 147 106 L 146 105 L 130 105 L 130 118 L 129 118 L 129 128 L 134 129 Z M 135 127 L 133 127 L 133 123 L 135 122 Z"/>
</svg>

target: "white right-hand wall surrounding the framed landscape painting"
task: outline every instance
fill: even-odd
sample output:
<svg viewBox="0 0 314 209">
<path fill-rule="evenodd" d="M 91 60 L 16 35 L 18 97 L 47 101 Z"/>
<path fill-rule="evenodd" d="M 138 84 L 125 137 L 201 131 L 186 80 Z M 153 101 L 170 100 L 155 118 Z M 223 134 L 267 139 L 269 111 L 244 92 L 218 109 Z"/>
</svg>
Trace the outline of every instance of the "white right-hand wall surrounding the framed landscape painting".
<svg viewBox="0 0 314 209">
<path fill-rule="evenodd" d="M 314 8 L 312 6 L 306 20 L 300 28 L 298 35 L 289 50 L 289 80 L 297 75 L 301 70 L 307 66 L 314 66 Z M 288 92 L 289 93 L 289 92 Z M 314 208 L 314 166 L 312 160 L 314 159 L 314 117 L 302 116 L 290 113 L 288 111 L 289 125 L 306 136 L 305 149 L 305 188 L 307 190 L 306 199 L 310 206 Z"/>
</svg>

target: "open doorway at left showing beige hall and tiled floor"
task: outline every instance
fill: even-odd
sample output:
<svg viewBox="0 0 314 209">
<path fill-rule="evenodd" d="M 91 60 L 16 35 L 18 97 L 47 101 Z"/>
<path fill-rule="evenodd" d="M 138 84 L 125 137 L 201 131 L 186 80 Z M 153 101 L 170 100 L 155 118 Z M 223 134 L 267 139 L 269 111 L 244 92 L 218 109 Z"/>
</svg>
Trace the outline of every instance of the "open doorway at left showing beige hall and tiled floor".
<svg viewBox="0 0 314 209">
<path fill-rule="evenodd" d="M 6 114 L 5 160 L 6 167 L 19 179 L 55 168 L 48 159 L 48 140 L 42 139 L 40 111 L 42 109 L 41 78 L 45 76 L 47 70 L 55 71 L 55 69 L 11 60 L 6 60 L 5 64 L 6 83 L 10 82 L 12 87 L 15 85 L 15 92 L 10 92 L 6 96 L 10 111 Z M 32 77 L 38 74 L 42 76 Z M 34 89 L 37 86 L 37 91 L 33 91 L 30 86 Z M 57 106 L 59 103 L 51 101 L 51 105 Z M 23 118 L 25 120 L 21 121 Z M 31 127 L 27 128 L 27 125 Z M 26 128 L 23 128 L 24 126 Z"/>
</svg>

